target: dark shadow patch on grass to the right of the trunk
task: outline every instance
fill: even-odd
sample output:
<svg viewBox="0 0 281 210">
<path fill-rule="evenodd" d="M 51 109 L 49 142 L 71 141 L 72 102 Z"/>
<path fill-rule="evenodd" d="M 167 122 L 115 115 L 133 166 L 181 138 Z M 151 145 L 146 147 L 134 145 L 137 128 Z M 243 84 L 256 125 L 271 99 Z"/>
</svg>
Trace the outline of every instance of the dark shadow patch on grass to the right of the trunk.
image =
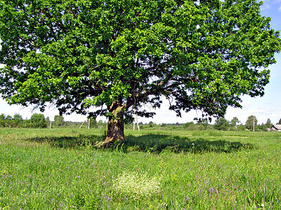
<svg viewBox="0 0 281 210">
<path fill-rule="evenodd" d="M 215 140 L 204 138 L 189 139 L 188 137 L 169 136 L 163 134 L 149 134 L 141 137 L 129 136 L 126 141 L 116 142 L 115 148 L 122 146 L 122 151 L 145 151 L 161 153 L 162 151 L 191 152 L 191 153 L 232 153 L 254 148 L 252 144 L 239 141 Z"/>
</svg>

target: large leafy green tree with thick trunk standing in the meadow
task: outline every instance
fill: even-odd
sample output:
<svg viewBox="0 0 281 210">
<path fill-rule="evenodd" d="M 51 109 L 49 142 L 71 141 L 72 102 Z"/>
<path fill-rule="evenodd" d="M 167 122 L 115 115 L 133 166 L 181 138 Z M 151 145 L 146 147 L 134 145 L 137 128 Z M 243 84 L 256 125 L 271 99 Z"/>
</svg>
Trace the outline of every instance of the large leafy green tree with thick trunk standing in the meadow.
<svg viewBox="0 0 281 210">
<path fill-rule="evenodd" d="M 146 103 L 220 117 L 262 96 L 279 33 L 254 0 L 1 0 L 1 95 L 107 116 L 105 143 Z M 89 113 L 89 107 L 98 109 Z"/>
</svg>

